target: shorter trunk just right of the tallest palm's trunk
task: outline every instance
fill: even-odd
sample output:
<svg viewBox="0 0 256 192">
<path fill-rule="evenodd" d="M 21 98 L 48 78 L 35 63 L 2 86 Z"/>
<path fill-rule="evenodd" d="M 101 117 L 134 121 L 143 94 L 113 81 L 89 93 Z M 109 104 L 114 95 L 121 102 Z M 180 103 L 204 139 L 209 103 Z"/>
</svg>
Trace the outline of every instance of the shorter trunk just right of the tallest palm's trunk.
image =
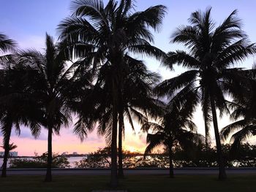
<svg viewBox="0 0 256 192">
<path fill-rule="evenodd" d="M 119 126 L 118 126 L 118 177 L 124 178 L 123 170 L 123 150 L 122 150 L 122 133 L 124 126 L 124 117 L 122 112 L 119 112 Z"/>
</svg>

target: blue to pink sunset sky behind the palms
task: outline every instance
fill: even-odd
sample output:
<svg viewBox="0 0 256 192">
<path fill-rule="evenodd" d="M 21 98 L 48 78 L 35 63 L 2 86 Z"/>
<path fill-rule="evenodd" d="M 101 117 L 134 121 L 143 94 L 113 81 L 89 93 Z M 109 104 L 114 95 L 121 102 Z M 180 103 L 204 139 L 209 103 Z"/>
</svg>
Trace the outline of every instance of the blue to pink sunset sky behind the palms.
<svg viewBox="0 0 256 192">
<path fill-rule="evenodd" d="M 58 39 L 56 28 L 60 21 L 71 14 L 69 11 L 70 0 L 0 0 L 0 33 L 7 34 L 11 39 L 18 42 L 20 49 L 35 48 L 43 51 L 45 47 L 45 33 L 47 32 L 55 39 Z M 106 3 L 107 1 L 105 1 Z M 184 49 L 181 45 L 171 45 L 170 35 L 178 26 L 187 25 L 187 19 L 192 12 L 201 9 L 206 10 L 212 7 L 212 18 L 217 26 L 233 12 L 238 9 L 238 18 L 244 23 L 244 31 L 248 34 L 251 42 L 256 42 L 255 29 L 255 7 L 254 0 L 137 0 L 136 10 L 142 11 L 148 7 L 163 4 L 167 7 L 167 15 L 163 20 L 162 30 L 154 33 L 155 46 L 168 52 L 170 50 Z M 184 69 L 175 67 L 174 71 L 160 66 L 158 61 L 151 58 L 143 58 L 149 69 L 162 74 L 162 79 L 175 77 Z M 251 68 L 254 58 L 249 58 L 236 66 Z M 204 134 L 203 116 L 198 107 L 194 115 L 194 122 L 197 124 L 198 132 Z M 225 116 L 219 119 L 219 128 L 230 123 Z M 126 135 L 124 149 L 143 152 L 146 147 L 146 134 L 140 131 L 136 124 L 135 132 L 126 123 Z M 211 128 L 211 138 L 214 139 L 214 131 Z M 0 134 L 0 139 L 1 139 Z M 11 142 L 18 145 L 18 155 L 34 155 L 47 151 L 47 131 L 42 128 L 39 138 L 31 137 L 29 128 L 23 128 L 18 137 L 12 132 Z M 53 137 L 53 152 L 55 153 L 89 153 L 105 146 L 105 140 L 97 136 L 94 131 L 89 134 L 85 141 L 80 142 L 72 132 L 72 126 L 62 128 L 60 136 Z"/>
</svg>

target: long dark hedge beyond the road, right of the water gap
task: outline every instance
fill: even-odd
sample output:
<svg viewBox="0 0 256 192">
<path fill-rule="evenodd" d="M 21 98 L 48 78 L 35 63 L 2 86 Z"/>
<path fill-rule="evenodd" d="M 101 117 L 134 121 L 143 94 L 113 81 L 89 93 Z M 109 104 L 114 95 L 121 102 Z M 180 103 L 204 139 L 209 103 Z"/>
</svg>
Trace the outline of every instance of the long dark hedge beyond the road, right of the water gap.
<svg viewBox="0 0 256 192">
<path fill-rule="evenodd" d="M 227 167 L 253 167 L 256 166 L 256 145 L 245 143 L 241 145 L 238 153 L 230 153 L 231 145 L 222 145 L 225 166 Z M 167 168 L 169 158 L 167 152 L 158 151 L 149 154 L 146 158 L 140 153 L 124 151 L 124 168 L 154 167 Z M 110 168 L 110 150 L 108 147 L 89 153 L 86 158 L 75 163 L 79 168 Z M 173 152 L 174 167 L 217 167 L 217 148 L 199 145 L 192 152 L 176 147 Z"/>
</svg>

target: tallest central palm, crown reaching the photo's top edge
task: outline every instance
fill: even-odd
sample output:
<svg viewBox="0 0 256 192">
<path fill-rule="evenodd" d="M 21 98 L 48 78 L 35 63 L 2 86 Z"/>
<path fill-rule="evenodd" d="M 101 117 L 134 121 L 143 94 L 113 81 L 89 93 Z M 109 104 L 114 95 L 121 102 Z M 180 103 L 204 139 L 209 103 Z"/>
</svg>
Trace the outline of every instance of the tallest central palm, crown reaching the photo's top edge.
<svg viewBox="0 0 256 192">
<path fill-rule="evenodd" d="M 59 24 L 60 39 L 67 42 L 72 53 L 83 58 L 81 64 L 94 69 L 99 81 L 108 81 L 108 93 L 111 95 L 111 186 L 118 185 L 117 180 L 117 123 L 120 90 L 127 76 L 124 63 L 125 53 L 135 53 L 162 58 L 164 53 L 151 46 L 153 35 L 148 28 L 159 30 L 166 7 L 157 5 L 143 12 L 133 12 L 132 0 L 108 1 L 80 0 L 72 2 L 73 14 Z M 106 75 L 99 74 L 108 70 Z"/>
</svg>

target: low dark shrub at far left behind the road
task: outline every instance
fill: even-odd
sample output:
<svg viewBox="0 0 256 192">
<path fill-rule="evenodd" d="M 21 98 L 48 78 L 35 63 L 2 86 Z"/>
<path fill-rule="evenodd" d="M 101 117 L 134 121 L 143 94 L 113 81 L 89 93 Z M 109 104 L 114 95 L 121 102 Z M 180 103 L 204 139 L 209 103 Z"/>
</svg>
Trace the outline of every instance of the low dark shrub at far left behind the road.
<svg viewBox="0 0 256 192">
<path fill-rule="evenodd" d="M 42 155 L 34 158 L 12 158 L 10 160 L 10 168 L 13 169 L 26 169 L 26 168 L 46 168 L 47 167 L 47 155 L 48 153 L 42 153 Z M 53 153 L 53 168 L 69 168 L 69 161 L 67 157 Z"/>
</svg>

